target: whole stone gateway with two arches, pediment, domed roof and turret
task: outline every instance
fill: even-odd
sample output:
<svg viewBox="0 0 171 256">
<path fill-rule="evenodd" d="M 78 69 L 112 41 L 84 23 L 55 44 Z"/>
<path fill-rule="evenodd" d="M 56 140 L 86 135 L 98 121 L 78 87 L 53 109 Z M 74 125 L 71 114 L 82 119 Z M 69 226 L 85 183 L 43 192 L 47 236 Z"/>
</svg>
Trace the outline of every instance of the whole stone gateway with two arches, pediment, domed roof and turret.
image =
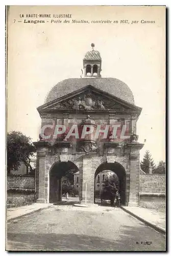
<svg viewBox="0 0 171 256">
<path fill-rule="evenodd" d="M 37 202 L 60 201 L 61 179 L 72 170 L 79 172 L 80 204 L 93 204 L 95 177 L 111 170 L 119 179 L 121 204 L 138 206 L 143 144 L 138 142 L 136 122 L 141 108 L 126 83 L 101 77 L 102 58 L 91 46 L 83 59 L 84 77 L 57 83 L 37 109 L 44 127 L 34 142 Z M 79 136 L 71 129 L 76 126 Z"/>
</svg>

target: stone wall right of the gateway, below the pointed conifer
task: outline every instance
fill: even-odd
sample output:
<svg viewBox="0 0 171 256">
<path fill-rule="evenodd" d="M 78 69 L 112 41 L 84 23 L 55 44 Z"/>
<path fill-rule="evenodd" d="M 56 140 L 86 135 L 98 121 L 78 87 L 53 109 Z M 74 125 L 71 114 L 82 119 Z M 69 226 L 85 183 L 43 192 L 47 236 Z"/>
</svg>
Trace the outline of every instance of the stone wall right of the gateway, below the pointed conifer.
<svg viewBox="0 0 171 256">
<path fill-rule="evenodd" d="M 165 208 L 165 175 L 140 175 L 139 206 L 154 209 Z"/>
</svg>

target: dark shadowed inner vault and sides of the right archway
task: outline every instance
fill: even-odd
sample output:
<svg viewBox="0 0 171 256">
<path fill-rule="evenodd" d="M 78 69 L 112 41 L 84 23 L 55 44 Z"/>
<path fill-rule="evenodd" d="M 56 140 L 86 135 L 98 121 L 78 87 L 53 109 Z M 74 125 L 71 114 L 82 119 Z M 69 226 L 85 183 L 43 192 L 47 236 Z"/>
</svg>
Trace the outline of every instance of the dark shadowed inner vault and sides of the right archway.
<svg viewBox="0 0 171 256">
<path fill-rule="evenodd" d="M 97 167 L 94 174 L 94 203 L 95 202 L 95 178 L 96 176 L 103 172 L 103 170 L 110 170 L 115 173 L 119 179 L 119 194 L 121 197 L 121 205 L 127 205 L 127 193 L 126 193 L 126 170 L 123 165 L 120 163 L 102 163 L 99 167 Z M 101 204 L 101 202 L 99 202 Z M 114 205 L 115 206 L 115 205 Z"/>
</svg>

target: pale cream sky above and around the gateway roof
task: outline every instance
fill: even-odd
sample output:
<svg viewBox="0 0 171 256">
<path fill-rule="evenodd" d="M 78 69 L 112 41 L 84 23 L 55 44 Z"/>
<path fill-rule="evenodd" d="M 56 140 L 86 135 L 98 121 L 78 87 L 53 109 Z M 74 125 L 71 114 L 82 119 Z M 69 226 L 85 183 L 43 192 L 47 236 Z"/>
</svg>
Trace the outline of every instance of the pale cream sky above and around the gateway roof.
<svg viewBox="0 0 171 256">
<path fill-rule="evenodd" d="M 26 18 L 26 14 L 71 14 L 72 18 L 67 18 L 69 24 L 63 23 L 64 18 L 57 24 L 51 21 L 59 18 Z M 24 19 L 45 23 L 29 24 Z M 72 19 L 89 23 L 73 24 Z M 91 23 L 96 20 L 112 23 Z M 92 42 L 101 53 L 102 77 L 128 84 L 135 104 L 142 108 L 137 134 L 139 142 L 146 142 L 140 158 L 149 150 L 155 163 L 165 161 L 165 8 L 160 6 L 10 7 L 7 131 L 21 131 L 37 141 L 41 119 L 36 108 L 59 81 L 80 77 Z"/>
</svg>

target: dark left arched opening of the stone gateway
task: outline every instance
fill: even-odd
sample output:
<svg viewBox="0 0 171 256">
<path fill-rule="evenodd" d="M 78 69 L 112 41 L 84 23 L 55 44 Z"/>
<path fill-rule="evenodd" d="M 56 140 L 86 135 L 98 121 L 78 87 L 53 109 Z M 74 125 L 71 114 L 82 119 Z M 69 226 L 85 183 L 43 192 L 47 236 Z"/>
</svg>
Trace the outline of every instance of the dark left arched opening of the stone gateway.
<svg viewBox="0 0 171 256">
<path fill-rule="evenodd" d="M 50 169 L 49 173 L 49 202 L 56 203 L 62 201 L 62 195 L 68 193 L 75 195 L 74 190 L 79 186 L 75 187 L 74 174 L 79 172 L 78 167 L 73 162 L 56 162 Z M 74 193 L 74 194 L 73 194 Z"/>
</svg>

